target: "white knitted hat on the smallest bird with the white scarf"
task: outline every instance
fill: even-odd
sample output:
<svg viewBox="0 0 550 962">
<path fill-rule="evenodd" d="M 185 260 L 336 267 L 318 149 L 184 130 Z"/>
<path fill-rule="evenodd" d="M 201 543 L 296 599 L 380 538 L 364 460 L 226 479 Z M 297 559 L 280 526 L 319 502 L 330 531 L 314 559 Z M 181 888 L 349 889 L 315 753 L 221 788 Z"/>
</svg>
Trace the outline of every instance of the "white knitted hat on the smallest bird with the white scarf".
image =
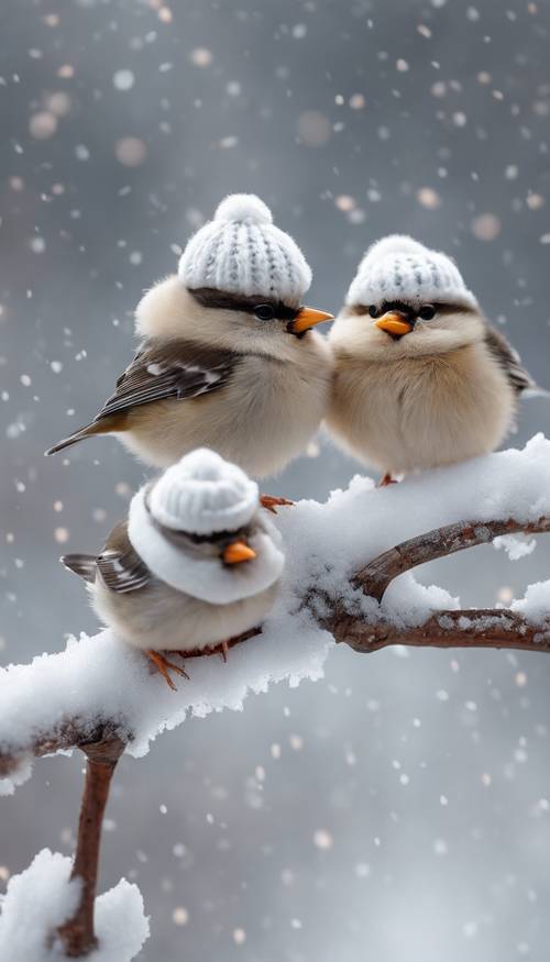
<svg viewBox="0 0 550 962">
<path fill-rule="evenodd" d="M 258 506 L 258 490 L 235 464 L 199 447 L 164 472 L 148 505 L 165 528 L 212 534 L 248 524 Z"/>
</svg>

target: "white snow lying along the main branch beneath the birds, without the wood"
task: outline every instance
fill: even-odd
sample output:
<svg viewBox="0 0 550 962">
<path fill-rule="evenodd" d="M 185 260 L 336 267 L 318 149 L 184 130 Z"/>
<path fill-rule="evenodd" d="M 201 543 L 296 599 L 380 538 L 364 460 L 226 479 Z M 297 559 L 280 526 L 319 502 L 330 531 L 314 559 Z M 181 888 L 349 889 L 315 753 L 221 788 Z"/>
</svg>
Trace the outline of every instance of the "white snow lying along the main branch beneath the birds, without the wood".
<svg viewBox="0 0 550 962">
<path fill-rule="evenodd" d="M 98 720 L 116 719 L 123 736 L 133 734 L 128 752 L 141 756 L 158 732 L 189 714 L 240 709 L 246 694 L 266 690 L 270 682 L 319 678 L 333 642 L 311 612 L 322 616 L 327 601 L 343 602 L 366 620 L 382 615 L 396 627 L 418 626 L 438 610 L 460 607 L 458 598 L 419 585 L 410 573 L 392 583 L 381 606 L 364 598 L 350 577 L 388 548 L 461 520 L 536 522 L 544 515 L 550 515 L 550 441 L 542 435 L 522 451 L 427 472 L 387 488 L 355 476 L 326 505 L 301 501 L 279 510 L 287 559 L 279 599 L 263 633 L 232 649 L 227 664 L 218 655 L 187 660 L 190 681 L 179 682 L 173 693 L 150 674 L 143 654 L 109 630 L 72 640 L 59 654 L 0 672 L 0 747 L 24 754 L 64 717 L 78 718 L 90 732 Z M 540 618 L 550 608 L 548 593 L 548 586 L 531 587 L 516 610 Z"/>
</svg>

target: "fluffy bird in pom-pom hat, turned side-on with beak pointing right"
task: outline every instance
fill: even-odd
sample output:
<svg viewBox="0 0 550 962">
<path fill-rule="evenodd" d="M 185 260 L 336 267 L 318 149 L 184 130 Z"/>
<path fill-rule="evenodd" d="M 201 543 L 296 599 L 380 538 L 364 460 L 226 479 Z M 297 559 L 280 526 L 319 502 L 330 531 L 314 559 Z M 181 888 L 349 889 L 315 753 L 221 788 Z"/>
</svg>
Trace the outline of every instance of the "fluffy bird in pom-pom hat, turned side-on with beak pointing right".
<svg viewBox="0 0 550 962">
<path fill-rule="evenodd" d="M 87 427 L 46 454 L 116 434 L 166 467 L 199 445 L 253 477 L 299 455 L 324 417 L 331 354 L 302 307 L 311 270 L 254 195 L 231 195 L 188 242 L 177 275 L 140 301 L 141 344 Z"/>
</svg>

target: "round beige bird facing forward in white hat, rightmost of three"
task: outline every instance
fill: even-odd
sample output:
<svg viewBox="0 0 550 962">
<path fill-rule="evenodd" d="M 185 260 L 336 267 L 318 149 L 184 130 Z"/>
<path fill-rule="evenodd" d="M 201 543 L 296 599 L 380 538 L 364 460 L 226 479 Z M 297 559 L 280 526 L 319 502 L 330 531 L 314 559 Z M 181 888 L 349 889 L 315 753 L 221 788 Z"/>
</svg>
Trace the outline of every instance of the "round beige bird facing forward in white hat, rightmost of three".
<svg viewBox="0 0 550 962">
<path fill-rule="evenodd" d="M 520 395 L 543 392 L 453 261 L 408 236 L 369 248 L 329 343 L 328 428 L 383 472 L 382 485 L 493 451 L 514 425 Z"/>
</svg>

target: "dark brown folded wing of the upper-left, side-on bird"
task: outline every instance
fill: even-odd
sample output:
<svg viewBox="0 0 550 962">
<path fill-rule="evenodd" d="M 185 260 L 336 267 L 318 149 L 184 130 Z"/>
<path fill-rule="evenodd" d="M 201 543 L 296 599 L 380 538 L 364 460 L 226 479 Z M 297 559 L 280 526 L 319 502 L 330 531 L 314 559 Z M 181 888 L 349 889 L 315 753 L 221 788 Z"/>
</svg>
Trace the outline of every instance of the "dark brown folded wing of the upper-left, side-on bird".
<svg viewBox="0 0 550 962">
<path fill-rule="evenodd" d="M 145 343 L 94 421 L 152 401 L 184 400 L 219 390 L 231 377 L 238 357 L 231 351 L 191 341 Z"/>
</svg>

